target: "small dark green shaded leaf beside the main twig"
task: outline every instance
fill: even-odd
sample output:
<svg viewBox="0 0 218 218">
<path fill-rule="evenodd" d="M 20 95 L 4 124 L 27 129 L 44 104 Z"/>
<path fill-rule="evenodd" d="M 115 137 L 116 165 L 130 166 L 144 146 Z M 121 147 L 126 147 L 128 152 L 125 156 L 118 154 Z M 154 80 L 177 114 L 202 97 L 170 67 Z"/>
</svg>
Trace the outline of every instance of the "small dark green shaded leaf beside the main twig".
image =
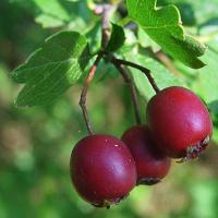
<svg viewBox="0 0 218 218">
<path fill-rule="evenodd" d="M 117 51 L 123 46 L 125 41 L 125 34 L 121 26 L 112 24 L 112 33 L 106 50 L 109 52 Z"/>
</svg>

